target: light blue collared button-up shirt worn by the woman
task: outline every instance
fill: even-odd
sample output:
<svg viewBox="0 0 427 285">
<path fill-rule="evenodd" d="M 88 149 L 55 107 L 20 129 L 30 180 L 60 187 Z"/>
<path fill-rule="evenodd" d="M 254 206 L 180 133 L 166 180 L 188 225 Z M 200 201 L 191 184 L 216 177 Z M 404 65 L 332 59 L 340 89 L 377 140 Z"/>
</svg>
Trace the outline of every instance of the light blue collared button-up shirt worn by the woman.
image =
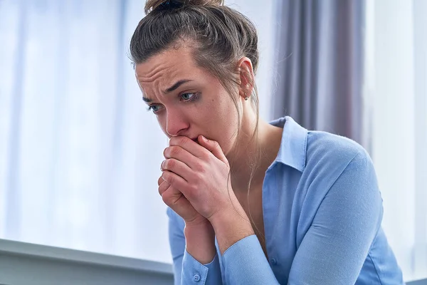
<svg viewBox="0 0 427 285">
<path fill-rule="evenodd" d="M 404 284 L 381 229 L 374 166 L 353 140 L 307 131 L 290 117 L 265 172 L 263 219 L 269 260 L 255 235 L 209 264 L 186 252 L 184 220 L 172 209 L 169 242 L 177 284 Z"/>
</svg>

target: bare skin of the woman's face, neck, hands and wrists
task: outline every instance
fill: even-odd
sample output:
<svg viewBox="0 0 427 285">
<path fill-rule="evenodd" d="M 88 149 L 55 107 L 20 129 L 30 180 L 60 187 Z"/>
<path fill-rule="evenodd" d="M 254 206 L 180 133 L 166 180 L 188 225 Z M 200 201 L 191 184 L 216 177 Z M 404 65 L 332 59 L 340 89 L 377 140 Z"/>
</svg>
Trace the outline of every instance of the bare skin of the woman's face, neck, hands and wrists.
<svg viewBox="0 0 427 285">
<path fill-rule="evenodd" d="M 159 194 L 186 222 L 186 250 L 206 264 L 216 253 L 215 236 L 223 254 L 232 244 L 254 234 L 247 214 L 249 205 L 251 212 L 257 213 L 258 225 L 263 227 L 259 199 L 262 182 L 265 170 L 277 155 L 282 129 L 260 120 L 258 140 L 249 139 L 256 127 L 256 113 L 251 101 L 245 100 L 253 88 L 253 81 L 243 76 L 251 74 L 253 79 L 248 58 L 237 63 L 247 73 L 241 73 L 233 90 L 239 98 L 239 121 L 230 95 L 217 78 L 196 65 L 192 52 L 185 45 L 171 48 L 139 63 L 135 75 L 144 101 L 170 138 L 169 147 L 164 150 Z M 263 158 L 247 199 L 250 165 L 257 144 Z M 232 169 L 229 161 L 234 161 Z"/>
</svg>

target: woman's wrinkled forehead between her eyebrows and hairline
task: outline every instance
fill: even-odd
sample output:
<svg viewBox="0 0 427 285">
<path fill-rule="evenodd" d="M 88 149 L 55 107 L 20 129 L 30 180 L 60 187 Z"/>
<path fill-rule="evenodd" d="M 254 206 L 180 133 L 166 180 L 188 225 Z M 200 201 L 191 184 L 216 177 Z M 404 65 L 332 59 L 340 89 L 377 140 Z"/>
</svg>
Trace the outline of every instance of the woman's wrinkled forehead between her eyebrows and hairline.
<svg viewBox="0 0 427 285">
<path fill-rule="evenodd" d="M 158 81 L 167 84 L 182 76 L 191 76 L 199 71 L 191 56 L 191 48 L 169 48 L 135 66 L 135 75 L 140 84 Z"/>
</svg>

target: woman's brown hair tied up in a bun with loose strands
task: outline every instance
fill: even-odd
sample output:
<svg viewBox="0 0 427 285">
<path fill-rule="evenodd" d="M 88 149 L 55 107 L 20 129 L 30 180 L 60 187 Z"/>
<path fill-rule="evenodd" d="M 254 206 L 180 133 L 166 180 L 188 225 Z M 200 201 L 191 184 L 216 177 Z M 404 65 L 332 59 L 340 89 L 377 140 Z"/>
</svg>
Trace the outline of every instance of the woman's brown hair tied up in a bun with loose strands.
<svg viewBox="0 0 427 285">
<path fill-rule="evenodd" d="M 258 67 L 258 35 L 252 22 L 238 11 L 224 6 L 223 0 L 147 0 L 145 14 L 147 16 L 139 21 L 130 41 L 132 62 L 135 65 L 143 63 L 162 51 L 183 44 L 191 46 L 196 64 L 218 78 L 231 96 L 239 122 L 239 95 L 235 90 L 243 73 L 253 86 L 252 93 L 248 95 L 256 112 L 256 128 L 251 140 L 256 138 L 259 110 L 255 78 L 238 67 L 238 61 L 244 56 L 251 60 L 254 74 Z M 237 130 L 239 138 L 240 128 Z M 251 180 L 255 165 L 257 163 L 253 162 Z"/>
</svg>

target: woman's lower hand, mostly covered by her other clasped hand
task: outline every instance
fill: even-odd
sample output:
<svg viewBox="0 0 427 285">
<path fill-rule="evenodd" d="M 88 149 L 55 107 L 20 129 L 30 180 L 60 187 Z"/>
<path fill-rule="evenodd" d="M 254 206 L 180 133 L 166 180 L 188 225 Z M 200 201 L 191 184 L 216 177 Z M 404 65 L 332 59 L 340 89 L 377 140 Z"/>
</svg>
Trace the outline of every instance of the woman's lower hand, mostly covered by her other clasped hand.
<svg viewBox="0 0 427 285">
<path fill-rule="evenodd" d="M 159 177 L 157 181 L 159 185 L 159 194 L 162 196 L 164 204 L 167 204 L 173 209 L 176 214 L 179 214 L 187 226 L 204 224 L 209 221 L 201 216 L 193 206 L 191 206 L 189 200 L 184 195 L 172 187 L 169 182 L 164 181 L 162 177 Z"/>
</svg>

